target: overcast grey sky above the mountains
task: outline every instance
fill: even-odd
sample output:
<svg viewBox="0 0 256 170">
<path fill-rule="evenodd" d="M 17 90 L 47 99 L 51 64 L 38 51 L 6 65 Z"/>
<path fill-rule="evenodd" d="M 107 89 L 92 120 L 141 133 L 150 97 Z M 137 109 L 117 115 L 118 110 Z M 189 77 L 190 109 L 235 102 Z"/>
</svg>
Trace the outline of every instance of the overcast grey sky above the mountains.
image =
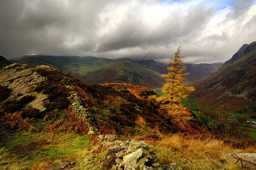
<svg viewBox="0 0 256 170">
<path fill-rule="evenodd" d="M 255 0 L 0 0 L 0 55 L 225 62 L 256 41 Z"/>
</svg>

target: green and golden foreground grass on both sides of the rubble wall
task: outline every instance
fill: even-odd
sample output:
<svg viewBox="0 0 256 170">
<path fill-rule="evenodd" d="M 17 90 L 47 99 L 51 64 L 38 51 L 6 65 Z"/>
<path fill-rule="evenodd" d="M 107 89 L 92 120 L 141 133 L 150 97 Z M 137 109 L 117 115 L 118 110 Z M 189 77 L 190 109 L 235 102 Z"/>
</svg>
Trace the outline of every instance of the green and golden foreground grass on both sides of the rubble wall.
<svg viewBox="0 0 256 170">
<path fill-rule="evenodd" d="M 159 141 L 148 140 L 150 148 L 156 152 L 161 165 L 177 163 L 182 169 L 239 169 L 240 164 L 225 162 L 225 155 L 230 152 L 255 152 L 255 146 L 243 149 L 232 148 L 211 135 L 184 136 L 173 134 L 162 136 Z M 100 159 L 106 154 L 91 152 L 95 145 L 89 137 L 71 133 L 19 133 L 12 141 L 0 143 L 1 169 L 58 169 L 62 162 L 75 162 L 70 169 L 100 169 Z M 218 155 L 221 159 L 211 157 L 205 152 Z M 187 159 L 182 159 L 184 156 Z"/>
</svg>

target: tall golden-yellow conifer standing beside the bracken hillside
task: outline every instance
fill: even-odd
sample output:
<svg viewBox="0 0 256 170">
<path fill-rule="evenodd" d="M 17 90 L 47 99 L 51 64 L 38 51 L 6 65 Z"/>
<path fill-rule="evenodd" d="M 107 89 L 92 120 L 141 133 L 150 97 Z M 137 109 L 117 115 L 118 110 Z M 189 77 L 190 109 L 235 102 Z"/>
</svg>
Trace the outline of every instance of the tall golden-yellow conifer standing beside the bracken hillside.
<svg viewBox="0 0 256 170">
<path fill-rule="evenodd" d="M 186 62 L 182 61 L 184 56 L 181 56 L 181 50 L 182 46 L 179 46 L 174 58 L 170 60 L 170 67 L 167 67 L 169 73 L 162 75 L 166 78 L 167 83 L 162 87 L 165 95 L 161 96 L 158 101 L 161 101 L 169 111 L 180 108 L 181 100 L 195 90 L 194 87 L 187 87 L 184 83 L 188 73 L 182 73 L 182 71 L 186 70 L 186 66 L 184 66 Z"/>
</svg>

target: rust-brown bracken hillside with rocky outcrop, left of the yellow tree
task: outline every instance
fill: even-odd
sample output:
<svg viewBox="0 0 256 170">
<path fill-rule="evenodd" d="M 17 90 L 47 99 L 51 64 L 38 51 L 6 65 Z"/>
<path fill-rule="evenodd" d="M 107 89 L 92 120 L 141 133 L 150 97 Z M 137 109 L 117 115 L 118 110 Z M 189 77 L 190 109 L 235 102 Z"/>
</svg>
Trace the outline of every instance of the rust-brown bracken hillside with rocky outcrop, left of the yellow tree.
<svg viewBox="0 0 256 170">
<path fill-rule="evenodd" d="M 152 135 L 186 131 L 165 117 L 149 88 L 131 84 L 85 84 L 49 66 L 13 64 L 0 71 L 0 115 L 22 112 L 22 117 L 50 119 L 62 111 L 88 121 L 102 134 Z M 191 118 L 192 114 L 191 114 Z M 196 122 L 196 120 L 195 120 Z M 191 122 L 198 133 L 200 124 Z M 87 127 L 90 129 L 90 127 Z M 137 129 L 136 131 L 134 129 Z M 95 130 L 96 129 L 96 130 Z M 95 133 L 95 132 L 94 132 Z"/>
</svg>

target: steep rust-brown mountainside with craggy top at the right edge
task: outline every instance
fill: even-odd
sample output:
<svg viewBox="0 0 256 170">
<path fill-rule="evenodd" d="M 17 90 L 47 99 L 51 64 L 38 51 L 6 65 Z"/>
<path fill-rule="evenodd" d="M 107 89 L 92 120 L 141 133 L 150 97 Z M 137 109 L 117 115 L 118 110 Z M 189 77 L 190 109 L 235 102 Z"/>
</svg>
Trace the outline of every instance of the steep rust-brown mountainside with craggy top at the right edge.
<svg viewBox="0 0 256 170">
<path fill-rule="evenodd" d="M 211 76 L 194 84 L 192 94 L 207 105 L 226 105 L 239 109 L 256 99 L 256 41 L 243 45 L 231 59 Z"/>
</svg>

